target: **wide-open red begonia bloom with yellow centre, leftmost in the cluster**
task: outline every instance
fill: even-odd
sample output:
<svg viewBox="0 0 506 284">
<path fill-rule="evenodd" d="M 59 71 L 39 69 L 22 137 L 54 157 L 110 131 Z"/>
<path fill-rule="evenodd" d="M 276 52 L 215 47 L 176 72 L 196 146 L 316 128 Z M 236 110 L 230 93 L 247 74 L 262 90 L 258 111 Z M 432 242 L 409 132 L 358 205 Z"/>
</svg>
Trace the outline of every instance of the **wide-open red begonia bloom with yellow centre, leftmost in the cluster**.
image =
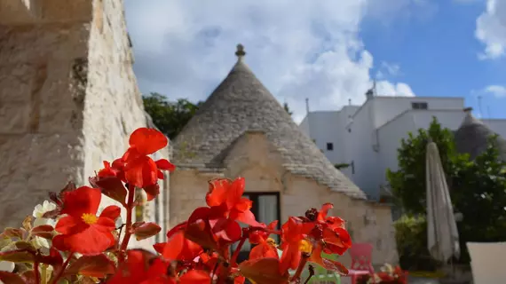
<svg viewBox="0 0 506 284">
<path fill-rule="evenodd" d="M 97 255 L 115 244 L 115 219 L 121 209 L 109 206 L 97 217 L 102 193 L 97 188 L 83 186 L 63 194 L 61 217 L 55 227 L 52 244 L 62 251 Z"/>
</svg>

